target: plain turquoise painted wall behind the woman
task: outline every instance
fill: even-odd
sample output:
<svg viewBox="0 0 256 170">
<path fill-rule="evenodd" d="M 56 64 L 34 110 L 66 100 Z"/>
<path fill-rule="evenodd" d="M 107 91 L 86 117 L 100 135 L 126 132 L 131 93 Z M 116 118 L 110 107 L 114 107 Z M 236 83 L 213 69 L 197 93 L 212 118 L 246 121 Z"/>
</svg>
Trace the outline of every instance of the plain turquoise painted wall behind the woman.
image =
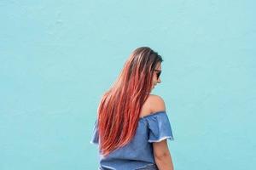
<svg viewBox="0 0 256 170">
<path fill-rule="evenodd" d="M 0 169 L 96 169 L 99 99 L 140 46 L 164 59 L 176 169 L 255 169 L 255 5 L 0 1 Z"/>
</svg>

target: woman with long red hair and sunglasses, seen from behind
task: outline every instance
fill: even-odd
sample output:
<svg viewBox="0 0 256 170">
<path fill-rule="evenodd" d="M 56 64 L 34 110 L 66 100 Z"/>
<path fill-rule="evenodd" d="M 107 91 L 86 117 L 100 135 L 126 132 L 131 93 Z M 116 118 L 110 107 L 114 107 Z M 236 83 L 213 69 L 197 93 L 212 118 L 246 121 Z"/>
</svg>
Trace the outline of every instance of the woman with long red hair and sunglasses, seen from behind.
<svg viewBox="0 0 256 170">
<path fill-rule="evenodd" d="M 90 141 L 99 144 L 99 169 L 173 169 L 165 102 L 150 94 L 161 82 L 162 61 L 151 48 L 135 49 L 118 80 L 102 95 Z"/>
</svg>

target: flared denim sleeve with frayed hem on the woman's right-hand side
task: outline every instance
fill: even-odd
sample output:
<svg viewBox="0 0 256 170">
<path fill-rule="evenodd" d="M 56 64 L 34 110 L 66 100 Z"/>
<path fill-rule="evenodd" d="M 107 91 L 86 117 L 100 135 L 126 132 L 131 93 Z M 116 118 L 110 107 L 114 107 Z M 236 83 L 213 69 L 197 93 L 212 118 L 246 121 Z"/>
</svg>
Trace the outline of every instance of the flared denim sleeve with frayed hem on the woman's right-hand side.
<svg viewBox="0 0 256 170">
<path fill-rule="evenodd" d="M 159 111 L 147 117 L 149 137 L 148 142 L 160 142 L 164 139 L 174 140 L 172 127 L 166 111 Z"/>
</svg>

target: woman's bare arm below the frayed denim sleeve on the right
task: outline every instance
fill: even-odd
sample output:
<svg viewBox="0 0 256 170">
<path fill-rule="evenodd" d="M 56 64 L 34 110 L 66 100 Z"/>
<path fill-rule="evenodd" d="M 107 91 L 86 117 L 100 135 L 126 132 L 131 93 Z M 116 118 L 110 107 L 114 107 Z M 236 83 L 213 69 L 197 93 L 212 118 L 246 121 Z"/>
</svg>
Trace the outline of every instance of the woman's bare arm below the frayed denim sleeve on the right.
<svg viewBox="0 0 256 170">
<path fill-rule="evenodd" d="M 166 139 L 153 143 L 154 161 L 160 170 L 173 170 L 172 156 Z"/>
</svg>

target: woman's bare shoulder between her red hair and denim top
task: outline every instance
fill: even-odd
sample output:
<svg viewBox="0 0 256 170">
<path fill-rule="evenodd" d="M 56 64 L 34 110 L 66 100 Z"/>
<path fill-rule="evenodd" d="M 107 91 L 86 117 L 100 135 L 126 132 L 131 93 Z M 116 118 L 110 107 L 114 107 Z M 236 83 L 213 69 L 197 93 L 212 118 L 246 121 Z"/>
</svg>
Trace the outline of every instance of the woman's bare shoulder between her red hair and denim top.
<svg viewBox="0 0 256 170">
<path fill-rule="evenodd" d="M 148 116 L 157 111 L 166 111 L 165 101 L 159 95 L 150 94 L 143 105 L 141 117 Z"/>
</svg>

